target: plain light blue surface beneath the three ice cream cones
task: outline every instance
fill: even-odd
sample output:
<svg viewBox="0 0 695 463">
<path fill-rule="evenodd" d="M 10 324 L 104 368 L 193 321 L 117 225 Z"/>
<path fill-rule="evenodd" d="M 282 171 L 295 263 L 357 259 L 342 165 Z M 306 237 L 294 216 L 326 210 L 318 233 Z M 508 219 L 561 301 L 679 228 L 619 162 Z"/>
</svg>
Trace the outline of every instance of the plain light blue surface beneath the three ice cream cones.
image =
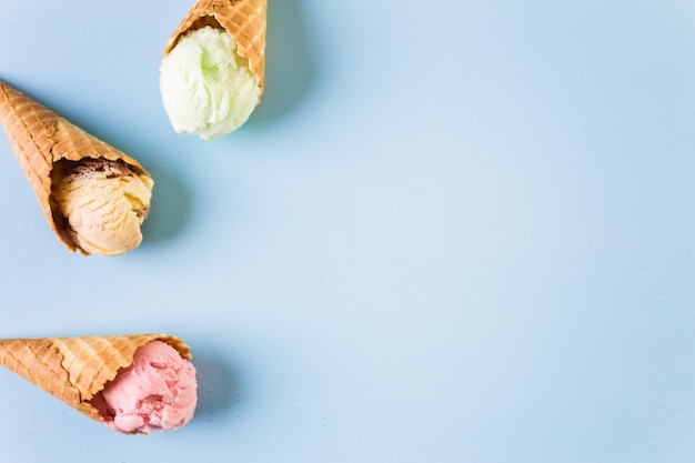
<svg viewBox="0 0 695 463">
<path fill-rule="evenodd" d="M 0 462 L 695 460 L 692 1 L 270 0 L 213 142 L 158 90 L 191 3 L 0 0 L 0 78 L 157 182 L 73 255 L 1 135 L 0 336 L 169 332 L 200 382 L 141 437 L 0 371 Z"/>
</svg>

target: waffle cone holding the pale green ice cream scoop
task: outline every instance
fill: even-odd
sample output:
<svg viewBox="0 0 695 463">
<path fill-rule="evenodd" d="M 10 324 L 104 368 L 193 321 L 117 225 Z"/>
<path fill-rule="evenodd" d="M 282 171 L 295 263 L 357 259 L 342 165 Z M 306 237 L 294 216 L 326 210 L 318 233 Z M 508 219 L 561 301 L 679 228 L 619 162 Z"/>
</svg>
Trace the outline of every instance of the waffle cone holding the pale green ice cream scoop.
<svg viewBox="0 0 695 463">
<path fill-rule="evenodd" d="M 228 31 L 240 57 L 249 59 L 249 69 L 259 78 L 261 95 L 265 84 L 265 30 L 268 0 L 198 0 L 169 39 L 164 56 L 187 33 L 211 26 Z M 259 97 L 260 98 L 260 97 Z"/>
</svg>

